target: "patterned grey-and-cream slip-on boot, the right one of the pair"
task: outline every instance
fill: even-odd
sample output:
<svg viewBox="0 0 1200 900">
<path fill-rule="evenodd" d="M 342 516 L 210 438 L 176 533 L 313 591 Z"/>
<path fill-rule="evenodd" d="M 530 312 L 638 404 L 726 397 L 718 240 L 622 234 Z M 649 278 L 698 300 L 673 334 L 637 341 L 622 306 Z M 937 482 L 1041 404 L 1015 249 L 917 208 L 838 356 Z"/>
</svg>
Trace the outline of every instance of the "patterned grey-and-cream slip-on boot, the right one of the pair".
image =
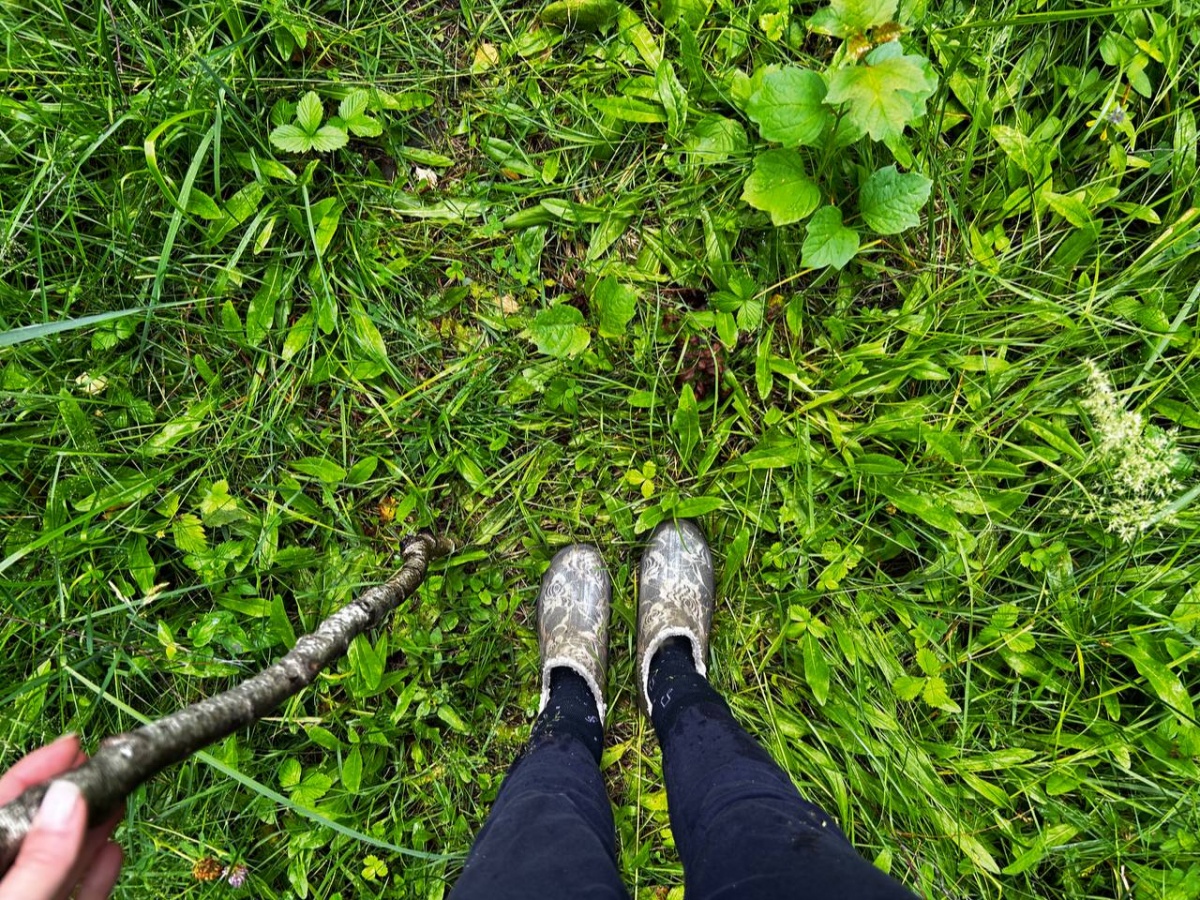
<svg viewBox="0 0 1200 900">
<path fill-rule="evenodd" d="M 713 584 L 713 554 L 695 522 L 676 520 L 654 529 L 642 553 L 637 592 L 637 695 L 647 715 L 650 660 L 664 641 L 686 637 L 696 671 L 708 671 Z"/>
</svg>

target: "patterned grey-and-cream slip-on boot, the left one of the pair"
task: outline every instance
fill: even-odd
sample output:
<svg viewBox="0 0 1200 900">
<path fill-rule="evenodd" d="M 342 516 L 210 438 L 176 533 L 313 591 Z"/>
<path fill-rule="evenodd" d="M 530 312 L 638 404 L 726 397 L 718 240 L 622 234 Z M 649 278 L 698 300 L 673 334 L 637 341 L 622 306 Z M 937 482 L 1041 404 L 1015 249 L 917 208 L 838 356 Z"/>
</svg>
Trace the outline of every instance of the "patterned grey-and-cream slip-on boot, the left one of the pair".
<svg viewBox="0 0 1200 900">
<path fill-rule="evenodd" d="M 572 544 L 558 551 L 538 594 L 538 646 L 541 649 L 540 714 L 550 701 L 550 672 L 577 672 L 596 698 L 604 721 L 604 683 L 608 667 L 608 608 L 612 582 L 600 551 Z"/>
</svg>

